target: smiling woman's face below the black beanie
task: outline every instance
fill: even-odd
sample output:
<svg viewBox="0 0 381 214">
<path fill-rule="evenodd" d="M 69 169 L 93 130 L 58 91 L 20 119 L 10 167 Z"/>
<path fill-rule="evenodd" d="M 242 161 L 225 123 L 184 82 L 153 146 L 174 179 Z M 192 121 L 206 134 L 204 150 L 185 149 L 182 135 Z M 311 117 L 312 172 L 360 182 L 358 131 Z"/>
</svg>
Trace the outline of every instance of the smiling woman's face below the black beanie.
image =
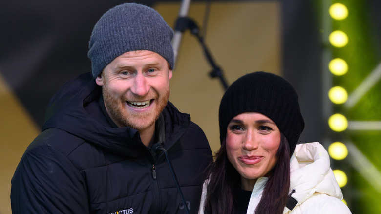
<svg viewBox="0 0 381 214">
<path fill-rule="evenodd" d="M 241 175 L 241 188 L 253 190 L 259 177 L 269 176 L 274 168 L 280 144 L 280 130 L 265 115 L 245 112 L 228 124 L 226 152 Z"/>
</svg>

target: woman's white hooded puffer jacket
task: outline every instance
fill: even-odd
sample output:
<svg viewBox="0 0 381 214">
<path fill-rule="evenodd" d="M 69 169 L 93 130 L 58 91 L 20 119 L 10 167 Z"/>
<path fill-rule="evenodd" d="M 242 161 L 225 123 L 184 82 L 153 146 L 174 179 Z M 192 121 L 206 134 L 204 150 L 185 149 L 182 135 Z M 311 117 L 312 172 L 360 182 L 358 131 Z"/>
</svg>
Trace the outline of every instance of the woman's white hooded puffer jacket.
<svg viewBox="0 0 381 214">
<path fill-rule="evenodd" d="M 328 152 L 321 144 L 296 145 L 290 162 L 290 193 L 295 190 L 292 197 L 297 203 L 292 210 L 286 207 L 283 214 L 351 214 L 341 201 L 342 193 L 330 168 Z M 199 214 L 204 214 L 207 182 L 204 183 Z M 267 178 L 262 177 L 255 183 L 247 214 L 254 214 L 266 182 Z"/>
</svg>

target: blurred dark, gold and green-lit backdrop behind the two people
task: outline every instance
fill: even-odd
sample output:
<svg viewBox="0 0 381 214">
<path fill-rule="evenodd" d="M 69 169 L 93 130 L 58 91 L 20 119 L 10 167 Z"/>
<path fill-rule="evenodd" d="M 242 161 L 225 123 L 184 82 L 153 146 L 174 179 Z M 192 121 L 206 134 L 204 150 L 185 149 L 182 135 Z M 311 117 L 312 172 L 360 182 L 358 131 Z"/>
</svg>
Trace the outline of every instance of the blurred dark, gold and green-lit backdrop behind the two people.
<svg viewBox="0 0 381 214">
<path fill-rule="evenodd" d="M 11 178 L 50 97 L 91 71 L 92 28 L 124 2 L 0 2 L 0 214 L 11 213 Z M 133 2 L 155 8 L 173 29 L 184 5 Z M 381 1 L 193 0 L 187 9 L 228 85 L 263 70 L 295 86 L 306 123 L 299 143 L 319 141 L 329 151 L 353 214 L 381 213 Z M 169 100 L 191 114 L 215 152 L 224 87 L 196 36 L 181 35 Z"/>
</svg>

